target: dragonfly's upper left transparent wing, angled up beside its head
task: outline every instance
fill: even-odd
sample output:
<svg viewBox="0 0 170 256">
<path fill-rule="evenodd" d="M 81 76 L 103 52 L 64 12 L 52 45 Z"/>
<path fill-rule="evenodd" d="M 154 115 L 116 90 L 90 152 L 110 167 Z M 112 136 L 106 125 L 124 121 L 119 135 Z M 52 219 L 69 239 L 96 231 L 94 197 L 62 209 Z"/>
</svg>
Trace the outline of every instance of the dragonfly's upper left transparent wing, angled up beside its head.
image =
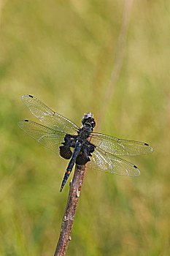
<svg viewBox="0 0 170 256">
<path fill-rule="evenodd" d="M 47 127 L 54 129 L 55 131 L 66 132 L 72 135 L 77 135 L 77 127 L 69 119 L 55 113 L 53 110 L 50 110 L 44 103 L 40 102 L 39 99 L 31 95 L 23 95 L 23 102 L 26 104 L 31 113 L 45 124 Z"/>
</svg>

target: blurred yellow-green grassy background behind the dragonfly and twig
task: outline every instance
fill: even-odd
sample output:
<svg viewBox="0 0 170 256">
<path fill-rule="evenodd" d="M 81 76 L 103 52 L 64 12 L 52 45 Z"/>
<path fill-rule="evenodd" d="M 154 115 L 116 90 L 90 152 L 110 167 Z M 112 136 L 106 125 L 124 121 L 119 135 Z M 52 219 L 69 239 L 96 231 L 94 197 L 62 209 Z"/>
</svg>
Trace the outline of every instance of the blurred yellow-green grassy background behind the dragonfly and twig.
<svg viewBox="0 0 170 256">
<path fill-rule="evenodd" d="M 67 255 L 170 255 L 169 31 L 166 0 L 0 1 L 1 256 L 53 255 L 69 192 L 68 162 L 17 125 L 36 121 L 23 94 L 154 148 L 125 158 L 139 178 L 87 169 Z"/>
</svg>

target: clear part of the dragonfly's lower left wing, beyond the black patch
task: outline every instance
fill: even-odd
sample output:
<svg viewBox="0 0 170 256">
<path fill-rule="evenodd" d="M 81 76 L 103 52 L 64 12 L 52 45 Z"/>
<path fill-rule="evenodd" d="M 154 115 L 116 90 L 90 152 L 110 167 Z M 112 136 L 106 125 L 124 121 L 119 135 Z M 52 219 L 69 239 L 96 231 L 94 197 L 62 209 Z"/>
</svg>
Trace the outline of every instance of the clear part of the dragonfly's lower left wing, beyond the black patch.
<svg viewBox="0 0 170 256">
<path fill-rule="evenodd" d="M 66 132 L 55 131 L 34 121 L 18 121 L 18 126 L 24 130 L 31 138 L 37 140 L 43 146 L 50 148 L 55 153 L 59 153 L 59 146 L 64 142 Z"/>
</svg>

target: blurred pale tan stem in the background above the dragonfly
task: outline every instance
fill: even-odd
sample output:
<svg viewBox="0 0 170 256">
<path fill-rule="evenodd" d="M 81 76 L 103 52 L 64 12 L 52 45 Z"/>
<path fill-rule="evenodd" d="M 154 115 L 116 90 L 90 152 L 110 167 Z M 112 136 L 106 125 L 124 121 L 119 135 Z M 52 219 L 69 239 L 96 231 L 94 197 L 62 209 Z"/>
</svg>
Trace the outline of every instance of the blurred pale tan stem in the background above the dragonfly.
<svg viewBox="0 0 170 256">
<path fill-rule="evenodd" d="M 101 128 L 101 120 L 104 118 L 104 114 L 106 113 L 107 108 L 112 100 L 112 95 L 115 89 L 115 85 L 117 83 L 117 79 L 119 78 L 120 71 L 123 66 L 123 57 L 125 52 L 125 41 L 128 34 L 128 25 L 131 17 L 131 7 L 133 5 L 134 0 L 125 0 L 122 14 L 122 22 L 120 27 L 120 34 L 117 39 L 117 49 L 115 52 L 115 63 L 112 68 L 111 77 L 109 80 L 109 84 L 107 86 L 106 94 L 104 95 L 104 102 L 101 106 L 101 110 L 98 115 L 98 129 Z"/>
</svg>

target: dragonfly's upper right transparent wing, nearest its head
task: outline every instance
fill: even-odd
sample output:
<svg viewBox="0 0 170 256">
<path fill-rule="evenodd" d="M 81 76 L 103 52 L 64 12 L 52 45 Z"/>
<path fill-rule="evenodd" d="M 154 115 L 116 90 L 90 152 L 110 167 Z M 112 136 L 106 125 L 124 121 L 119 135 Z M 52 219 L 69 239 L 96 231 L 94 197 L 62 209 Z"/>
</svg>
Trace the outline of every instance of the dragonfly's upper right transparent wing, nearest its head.
<svg viewBox="0 0 170 256">
<path fill-rule="evenodd" d="M 91 133 L 90 142 L 110 154 L 120 156 L 136 156 L 152 153 L 152 148 L 147 143 L 134 140 L 121 140 L 96 132 Z"/>
</svg>

